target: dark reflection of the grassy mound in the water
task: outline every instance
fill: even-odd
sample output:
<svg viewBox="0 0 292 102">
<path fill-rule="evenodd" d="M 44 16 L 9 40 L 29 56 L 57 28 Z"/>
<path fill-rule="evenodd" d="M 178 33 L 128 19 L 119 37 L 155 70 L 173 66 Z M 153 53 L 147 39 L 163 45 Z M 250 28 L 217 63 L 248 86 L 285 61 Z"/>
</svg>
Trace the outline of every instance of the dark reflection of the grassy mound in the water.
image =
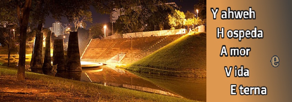
<svg viewBox="0 0 292 102">
<path fill-rule="evenodd" d="M 185 78 L 145 73 L 135 74 L 184 98 L 206 101 L 206 78 Z"/>
</svg>

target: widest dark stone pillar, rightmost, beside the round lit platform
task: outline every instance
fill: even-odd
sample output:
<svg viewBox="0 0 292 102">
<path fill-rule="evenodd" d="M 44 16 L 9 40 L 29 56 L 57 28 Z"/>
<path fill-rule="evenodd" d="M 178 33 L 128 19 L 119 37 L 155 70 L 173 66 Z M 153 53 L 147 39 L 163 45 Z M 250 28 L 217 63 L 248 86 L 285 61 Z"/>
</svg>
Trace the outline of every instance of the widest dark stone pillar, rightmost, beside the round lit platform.
<svg viewBox="0 0 292 102">
<path fill-rule="evenodd" d="M 78 32 L 70 32 L 67 50 L 67 71 L 81 72 Z"/>
</svg>

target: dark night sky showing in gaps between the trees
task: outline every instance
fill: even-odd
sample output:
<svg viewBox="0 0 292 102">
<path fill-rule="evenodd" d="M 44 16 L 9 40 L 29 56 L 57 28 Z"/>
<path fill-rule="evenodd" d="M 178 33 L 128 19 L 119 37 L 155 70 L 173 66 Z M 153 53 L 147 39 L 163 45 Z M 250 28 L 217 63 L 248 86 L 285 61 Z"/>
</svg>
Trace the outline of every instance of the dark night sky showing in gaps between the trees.
<svg viewBox="0 0 292 102">
<path fill-rule="evenodd" d="M 171 1 L 169 1 L 171 2 Z M 174 0 L 174 2 L 177 4 L 177 6 L 180 7 L 180 10 L 183 11 L 184 13 L 186 13 L 186 11 L 190 11 L 191 13 L 195 13 L 194 11 L 194 4 L 196 4 L 198 2 L 198 0 Z M 109 14 L 100 14 L 97 13 L 94 9 L 94 7 L 90 7 L 90 11 L 92 12 L 92 23 L 107 23 L 109 22 Z M 55 22 L 55 19 L 49 17 L 46 17 L 46 22 L 45 22 L 45 28 L 49 28 L 52 27 L 52 23 Z M 67 21 L 67 18 L 62 18 L 61 22 L 66 22 L 67 24 L 70 24 Z M 90 23 L 87 23 L 87 27 L 90 27 Z M 64 23 L 63 23 L 64 24 Z M 70 24 L 72 25 L 72 24 Z M 74 27 L 74 25 L 72 25 L 72 27 Z"/>
</svg>

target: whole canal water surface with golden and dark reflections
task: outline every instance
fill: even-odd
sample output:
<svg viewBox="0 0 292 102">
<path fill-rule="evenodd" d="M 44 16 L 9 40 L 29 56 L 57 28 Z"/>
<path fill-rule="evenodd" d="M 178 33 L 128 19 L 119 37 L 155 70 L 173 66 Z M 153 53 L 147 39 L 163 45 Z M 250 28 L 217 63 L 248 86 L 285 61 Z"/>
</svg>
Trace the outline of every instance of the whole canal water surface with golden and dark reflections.
<svg viewBox="0 0 292 102">
<path fill-rule="evenodd" d="M 70 75 L 77 75 L 77 77 L 73 78 Z M 83 69 L 81 75 L 78 75 L 78 73 L 70 75 L 70 79 L 80 79 L 81 81 L 94 82 L 106 86 L 122 87 L 123 84 L 141 86 L 169 92 L 191 100 L 206 101 L 206 78 L 184 78 L 169 75 L 141 74 L 129 72 L 109 65 L 102 66 L 96 70 Z"/>
</svg>

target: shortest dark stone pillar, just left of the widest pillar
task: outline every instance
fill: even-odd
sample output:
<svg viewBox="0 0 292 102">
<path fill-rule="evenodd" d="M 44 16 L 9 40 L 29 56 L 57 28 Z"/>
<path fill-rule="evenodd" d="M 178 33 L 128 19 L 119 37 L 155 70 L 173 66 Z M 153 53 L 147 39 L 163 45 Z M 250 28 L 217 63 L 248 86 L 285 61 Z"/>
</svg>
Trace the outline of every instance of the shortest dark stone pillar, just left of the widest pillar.
<svg viewBox="0 0 292 102">
<path fill-rule="evenodd" d="M 53 65 L 58 64 L 57 73 L 61 70 L 66 70 L 63 43 L 63 39 L 55 39 L 54 41 Z"/>
</svg>

